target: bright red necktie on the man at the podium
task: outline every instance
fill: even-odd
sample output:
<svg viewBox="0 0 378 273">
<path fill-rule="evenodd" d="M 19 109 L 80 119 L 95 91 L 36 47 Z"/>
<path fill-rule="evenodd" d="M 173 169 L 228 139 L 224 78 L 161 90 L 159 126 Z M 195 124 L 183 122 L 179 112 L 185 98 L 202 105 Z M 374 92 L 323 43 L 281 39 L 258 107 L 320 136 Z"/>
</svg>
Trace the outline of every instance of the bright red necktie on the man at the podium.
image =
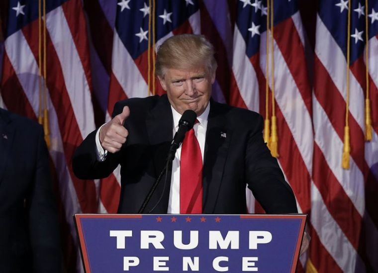
<svg viewBox="0 0 378 273">
<path fill-rule="evenodd" d="M 181 147 L 180 213 L 202 213 L 202 155 L 193 128 Z"/>
</svg>

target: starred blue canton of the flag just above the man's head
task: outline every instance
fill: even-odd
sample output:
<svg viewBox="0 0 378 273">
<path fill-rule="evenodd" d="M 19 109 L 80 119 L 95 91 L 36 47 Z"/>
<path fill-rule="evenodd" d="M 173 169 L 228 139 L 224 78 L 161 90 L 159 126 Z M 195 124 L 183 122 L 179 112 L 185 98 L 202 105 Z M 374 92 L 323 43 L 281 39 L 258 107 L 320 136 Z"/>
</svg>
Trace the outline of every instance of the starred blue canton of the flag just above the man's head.
<svg viewBox="0 0 378 273">
<path fill-rule="evenodd" d="M 198 1 L 159 0 L 156 6 L 156 41 L 182 25 L 198 10 Z M 121 0 L 117 3 L 115 29 L 135 60 L 148 48 L 148 2 Z M 152 34 L 152 33 L 151 33 Z"/>
</svg>

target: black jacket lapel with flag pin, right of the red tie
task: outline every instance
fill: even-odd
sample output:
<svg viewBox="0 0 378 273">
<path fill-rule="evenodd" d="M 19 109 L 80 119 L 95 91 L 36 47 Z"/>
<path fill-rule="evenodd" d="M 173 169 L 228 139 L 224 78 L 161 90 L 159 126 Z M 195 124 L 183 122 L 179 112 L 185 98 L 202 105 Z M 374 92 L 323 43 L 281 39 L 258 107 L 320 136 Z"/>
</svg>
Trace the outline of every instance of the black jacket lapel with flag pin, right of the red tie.
<svg viewBox="0 0 378 273">
<path fill-rule="evenodd" d="M 213 213 L 222 182 L 232 131 L 226 127 L 225 110 L 210 100 L 203 165 L 203 213 Z"/>
</svg>

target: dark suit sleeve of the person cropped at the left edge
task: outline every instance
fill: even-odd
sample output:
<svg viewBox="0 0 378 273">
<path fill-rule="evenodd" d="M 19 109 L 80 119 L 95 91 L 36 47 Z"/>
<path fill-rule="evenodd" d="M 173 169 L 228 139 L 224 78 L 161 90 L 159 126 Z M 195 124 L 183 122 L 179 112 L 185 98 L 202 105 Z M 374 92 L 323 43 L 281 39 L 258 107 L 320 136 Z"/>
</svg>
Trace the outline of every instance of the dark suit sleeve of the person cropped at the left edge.
<svg viewBox="0 0 378 273">
<path fill-rule="evenodd" d="M 39 127 L 34 181 L 26 198 L 29 216 L 33 272 L 61 272 L 62 252 L 58 212 L 52 189 L 49 156 Z"/>
</svg>

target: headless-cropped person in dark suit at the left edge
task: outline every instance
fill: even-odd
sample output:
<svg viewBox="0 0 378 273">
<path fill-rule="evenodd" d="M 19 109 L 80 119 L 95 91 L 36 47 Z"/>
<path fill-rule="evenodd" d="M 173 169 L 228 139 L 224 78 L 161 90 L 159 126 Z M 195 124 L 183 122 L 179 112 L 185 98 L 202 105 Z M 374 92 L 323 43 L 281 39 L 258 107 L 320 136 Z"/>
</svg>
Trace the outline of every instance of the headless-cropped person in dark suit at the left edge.
<svg viewBox="0 0 378 273">
<path fill-rule="evenodd" d="M 0 108 L 0 272 L 61 272 L 42 127 Z"/>
</svg>

